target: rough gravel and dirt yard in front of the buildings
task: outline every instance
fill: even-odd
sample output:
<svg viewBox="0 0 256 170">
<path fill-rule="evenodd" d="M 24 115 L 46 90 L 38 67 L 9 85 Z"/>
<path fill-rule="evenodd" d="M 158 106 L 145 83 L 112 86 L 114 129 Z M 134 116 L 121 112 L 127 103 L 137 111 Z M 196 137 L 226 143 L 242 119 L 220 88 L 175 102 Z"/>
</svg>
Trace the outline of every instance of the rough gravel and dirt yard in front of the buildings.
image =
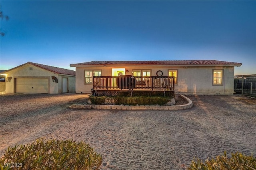
<svg viewBox="0 0 256 170">
<path fill-rule="evenodd" d="M 0 96 L 0 156 L 37 138 L 84 141 L 102 154 L 102 170 L 183 170 L 194 157 L 256 156 L 256 99 L 188 96 L 187 110 L 72 110 L 86 94 Z M 178 100 L 177 100 L 178 101 Z M 181 102 L 180 102 L 181 103 Z"/>
</svg>

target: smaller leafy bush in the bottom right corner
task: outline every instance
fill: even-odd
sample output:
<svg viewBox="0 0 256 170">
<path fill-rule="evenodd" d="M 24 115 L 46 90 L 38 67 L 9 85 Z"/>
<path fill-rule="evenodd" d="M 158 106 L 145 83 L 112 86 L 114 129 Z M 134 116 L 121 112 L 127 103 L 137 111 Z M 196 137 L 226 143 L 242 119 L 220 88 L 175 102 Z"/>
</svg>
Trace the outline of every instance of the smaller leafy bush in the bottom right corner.
<svg viewBox="0 0 256 170">
<path fill-rule="evenodd" d="M 203 162 L 200 159 L 192 161 L 188 170 L 256 170 L 256 158 L 253 156 L 245 156 L 240 152 L 231 154 L 228 158 L 226 151 L 224 156 L 216 156 L 215 159 Z"/>
</svg>

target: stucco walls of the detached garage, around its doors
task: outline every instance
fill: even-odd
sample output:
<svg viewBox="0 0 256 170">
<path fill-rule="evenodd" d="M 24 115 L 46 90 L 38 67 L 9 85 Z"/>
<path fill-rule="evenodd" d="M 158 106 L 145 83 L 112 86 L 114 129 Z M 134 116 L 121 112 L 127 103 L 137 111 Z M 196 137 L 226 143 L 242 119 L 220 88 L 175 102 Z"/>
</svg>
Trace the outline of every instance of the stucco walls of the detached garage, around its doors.
<svg viewBox="0 0 256 170">
<path fill-rule="evenodd" d="M 30 67 L 32 67 L 32 70 L 30 70 Z M 61 93 L 61 89 L 59 89 L 59 85 L 61 86 L 61 81 L 59 81 L 58 83 L 52 81 L 52 76 L 55 76 L 56 78 L 58 78 L 58 74 L 55 74 L 48 70 L 44 70 L 42 68 L 38 68 L 31 64 L 26 64 L 24 66 L 21 66 L 19 68 L 11 70 L 10 72 L 7 72 L 6 73 L 6 81 L 7 81 L 7 77 L 9 77 L 9 76 L 11 76 L 12 79 L 10 82 L 6 82 L 6 93 L 14 93 L 15 92 L 15 89 L 14 89 L 14 79 L 15 78 L 26 78 L 26 77 L 48 78 L 49 82 L 50 82 L 49 93 L 57 94 L 57 93 L 59 93 L 59 91 Z M 72 77 L 70 79 L 75 79 L 75 77 Z M 61 79 L 58 78 L 58 80 L 61 80 Z M 74 92 L 75 91 L 74 83 L 70 83 L 69 85 L 70 85 L 69 89 L 73 90 L 73 92 Z M 73 85 L 73 87 L 71 87 L 72 85 Z"/>
</svg>

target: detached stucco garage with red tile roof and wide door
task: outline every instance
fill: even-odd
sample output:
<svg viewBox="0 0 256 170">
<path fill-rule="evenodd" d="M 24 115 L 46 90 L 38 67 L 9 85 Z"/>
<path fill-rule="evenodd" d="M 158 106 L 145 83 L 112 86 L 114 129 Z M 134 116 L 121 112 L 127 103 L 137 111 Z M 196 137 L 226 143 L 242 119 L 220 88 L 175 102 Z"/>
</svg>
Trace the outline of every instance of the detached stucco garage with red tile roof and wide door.
<svg viewBox="0 0 256 170">
<path fill-rule="evenodd" d="M 6 93 L 75 92 L 76 72 L 64 68 L 27 62 L 2 73 Z"/>
</svg>

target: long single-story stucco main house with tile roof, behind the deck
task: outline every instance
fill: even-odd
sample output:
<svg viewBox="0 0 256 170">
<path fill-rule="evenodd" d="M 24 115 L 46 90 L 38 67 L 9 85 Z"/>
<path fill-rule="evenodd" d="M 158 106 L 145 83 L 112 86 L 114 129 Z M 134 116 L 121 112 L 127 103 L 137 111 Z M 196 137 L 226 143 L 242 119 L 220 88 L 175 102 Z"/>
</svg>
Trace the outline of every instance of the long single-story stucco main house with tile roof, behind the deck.
<svg viewBox="0 0 256 170">
<path fill-rule="evenodd" d="M 234 94 L 234 67 L 241 65 L 242 63 L 218 60 L 91 61 L 70 64 L 76 68 L 76 93 L 90 93 L 95 87 L 94 76 L 116 77 L 122 74 L 136 78 L 174 77 L 174 89 L 171 90 L 176 94 L 186 95 Z M 152 84 L 153 79 L 154 77 Z M 136 86 L 137 84 L 138 82 Z M 139 84 L 146 86 L 141 81 Z"/>
</svg>

